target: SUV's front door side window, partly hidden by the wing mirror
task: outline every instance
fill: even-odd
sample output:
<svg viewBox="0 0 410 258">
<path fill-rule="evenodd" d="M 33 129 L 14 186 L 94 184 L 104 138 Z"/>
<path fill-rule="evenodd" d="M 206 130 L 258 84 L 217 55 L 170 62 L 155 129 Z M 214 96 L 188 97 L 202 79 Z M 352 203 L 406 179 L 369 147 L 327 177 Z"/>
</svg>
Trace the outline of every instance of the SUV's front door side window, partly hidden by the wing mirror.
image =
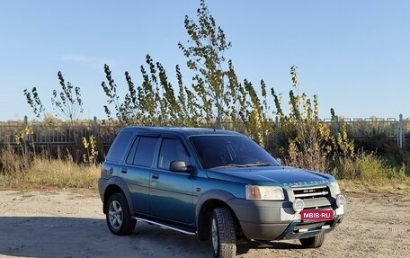
<svg viewBox="0 0 410 258">
<path fill-rule="evenodd" d="M 169 170 L 172 161 L 184 161 L 190 165 L 190 157 L 183 143 L 177 139 L 164 138 L 159 151 L 158 168 Z"/>
</svg>

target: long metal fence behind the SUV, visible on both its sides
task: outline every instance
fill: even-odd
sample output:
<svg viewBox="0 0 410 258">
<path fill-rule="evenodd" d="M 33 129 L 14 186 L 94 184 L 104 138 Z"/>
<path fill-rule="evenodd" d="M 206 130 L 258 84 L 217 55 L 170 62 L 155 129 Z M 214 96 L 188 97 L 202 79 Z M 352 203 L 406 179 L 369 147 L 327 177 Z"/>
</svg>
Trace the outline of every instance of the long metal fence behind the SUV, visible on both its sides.
<svg viewBox="0 0 410 258">
<path fill-rule="evenodd" d="M 330 123 L 337 134 L 344 125 L 351 138 L 369 138 L 376 135 L 386 135 L 397 140 L 397 145 L 403 147 L 406 136 L 410 136 L 410 118 L 380 119 L 345 119 L 323 120 Z M 32 130 L 31 141 L 35 147 L 40 149 L 60 148 L 78 151 L 82 147 L 81 139 L 94 135 L 98 139 L 100 149 L 105 151 L 111 145 L 113 138 L 119 132 L 121 125 L 118 123 L 94 120 L 78 122 L 55 122 L 45 124 L 44 122 L 29 122 L 27 118 L 22 121 L 0 122 L 0 147 L 19 147 L 16 136 L 30 126 Z M 272 122 L 272 126 L 281 126 L 280 121 Z"/>
</svg>

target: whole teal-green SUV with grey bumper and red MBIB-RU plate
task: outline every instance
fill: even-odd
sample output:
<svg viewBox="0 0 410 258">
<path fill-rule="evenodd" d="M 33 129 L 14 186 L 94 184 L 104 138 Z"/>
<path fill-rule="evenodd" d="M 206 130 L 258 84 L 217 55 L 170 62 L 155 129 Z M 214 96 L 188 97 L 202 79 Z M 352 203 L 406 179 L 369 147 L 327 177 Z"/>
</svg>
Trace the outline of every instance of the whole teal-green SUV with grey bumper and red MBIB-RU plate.
<svg viewBox="0 0 410 258">
<path fill-rule="evenodd" d="M 332 175 L 282 166 L 252 139 L 218 129 L 123 128 L 98 188 L 113 234 L 145 221 L 210 239 L 214 257 L 234 257 L 238 240 L 319 247 L 345 212 Z"/>
</svg>

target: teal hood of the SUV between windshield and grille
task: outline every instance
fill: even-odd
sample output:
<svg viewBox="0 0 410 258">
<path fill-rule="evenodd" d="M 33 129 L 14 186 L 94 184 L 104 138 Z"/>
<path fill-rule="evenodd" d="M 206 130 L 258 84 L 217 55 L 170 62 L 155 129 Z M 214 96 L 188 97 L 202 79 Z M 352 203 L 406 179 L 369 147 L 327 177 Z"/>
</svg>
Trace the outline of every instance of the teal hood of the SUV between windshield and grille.
<svg viewBox="0 0 410 258">
<path fill-rule="evenodd" d="M 289 166 L 223 167 L 208 170 L 212 179 L 243 182 L 256 185 L 298 186 L 326 184 L 334 177 Z"/>
</svg>

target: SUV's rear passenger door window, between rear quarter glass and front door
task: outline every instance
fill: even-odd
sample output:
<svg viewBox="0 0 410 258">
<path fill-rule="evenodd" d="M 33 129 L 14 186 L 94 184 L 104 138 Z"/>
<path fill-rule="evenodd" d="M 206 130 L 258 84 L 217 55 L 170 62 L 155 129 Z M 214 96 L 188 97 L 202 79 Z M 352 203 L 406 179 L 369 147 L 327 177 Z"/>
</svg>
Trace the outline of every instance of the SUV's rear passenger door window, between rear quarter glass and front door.
<svg viewBox="0 0 410 258">
<path fill-rule="evenodd" d="M 141 137 L 135 152 L 133 165 L 150 166 L 156 152 L 156 142 L 158 138 Z"/>
</svg>

